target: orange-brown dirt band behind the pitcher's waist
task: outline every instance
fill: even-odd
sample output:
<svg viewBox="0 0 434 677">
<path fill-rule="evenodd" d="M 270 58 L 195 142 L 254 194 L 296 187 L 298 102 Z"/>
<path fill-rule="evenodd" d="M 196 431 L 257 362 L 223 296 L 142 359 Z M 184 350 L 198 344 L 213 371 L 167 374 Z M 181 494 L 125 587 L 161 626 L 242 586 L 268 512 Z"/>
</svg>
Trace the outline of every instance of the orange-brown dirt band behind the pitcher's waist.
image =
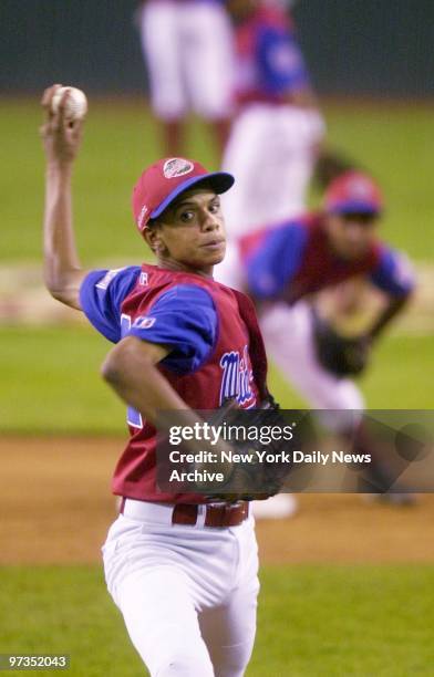
<svg viewBox="0 0 434 677">
<path fill-rule="evenodd" d="M 0 440 L 1 564 L 87 563 L 115 517 L 120 439 Z M 434 562 L 434 496 L 413 508 L 303 494 L 290 519 L 258 523 L 262 563 Z"/>
</svg>

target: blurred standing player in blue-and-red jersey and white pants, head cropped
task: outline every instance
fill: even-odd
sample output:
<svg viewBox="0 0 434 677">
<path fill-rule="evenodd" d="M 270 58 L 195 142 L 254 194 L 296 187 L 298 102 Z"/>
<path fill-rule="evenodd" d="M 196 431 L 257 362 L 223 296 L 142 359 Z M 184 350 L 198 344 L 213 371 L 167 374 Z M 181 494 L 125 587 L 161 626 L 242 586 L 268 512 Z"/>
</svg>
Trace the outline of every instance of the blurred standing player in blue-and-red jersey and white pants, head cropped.
<svg viewBox="0 0 434 677">
<path fill-rule="evenodd" d="M 292 20 L 278 2 L 229 0 L 238 113 L 223 167 L 228 237 L 300 213 L 324 133 Z M 260 178 L 260 180 L 258 180 Z"/>
</svg>

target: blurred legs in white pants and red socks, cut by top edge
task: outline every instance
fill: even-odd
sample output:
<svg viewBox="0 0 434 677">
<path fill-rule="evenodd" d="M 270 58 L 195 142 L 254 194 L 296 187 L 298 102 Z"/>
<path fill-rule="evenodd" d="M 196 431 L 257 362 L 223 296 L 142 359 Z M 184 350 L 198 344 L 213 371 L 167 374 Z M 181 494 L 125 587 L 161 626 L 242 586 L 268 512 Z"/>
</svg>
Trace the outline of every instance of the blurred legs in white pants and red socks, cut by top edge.
<svg viewBox="0 0 434 677">
<path fill-rule="evenodd" d="M 221 152 L 232 108 L 232 29 L 221 0 L 143 0 L 137 23 L 151 104 L 165 154 L 182 155 L 189 112 L 208 121 Z"/>
</svg>

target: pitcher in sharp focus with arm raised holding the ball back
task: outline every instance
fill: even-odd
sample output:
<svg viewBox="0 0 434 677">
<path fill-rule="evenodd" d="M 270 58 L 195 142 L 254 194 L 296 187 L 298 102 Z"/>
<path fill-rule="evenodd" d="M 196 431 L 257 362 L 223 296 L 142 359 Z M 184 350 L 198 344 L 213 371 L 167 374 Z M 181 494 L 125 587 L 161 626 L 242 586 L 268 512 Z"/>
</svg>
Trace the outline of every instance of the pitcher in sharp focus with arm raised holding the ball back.
<svg viewBox="0 0 434 677">
<path fill-rule="evenodd" d="M 133 212 L 157 264 L 82 270 L 71 209 L 82 129 L 65 119 L 68 93 L 51 112 L 58 86 L 42 100 L 45 283 L 115 344 L 102 372 L 130 407 L 130 440 L 113 479 L 121 514 L 103 548 L 107 587 L 152 675 L 241 676 L 259 590 L 249 504 L 158 492 L 154 427 L 159 409 L 188 416 L 227 396 L 250 408 L 264 396 L 252 305 L 213 280 L 225 253 L 219 194 L 234 179 L 186 158 L 155 163 L 134 188 Z"/>
</svg>

